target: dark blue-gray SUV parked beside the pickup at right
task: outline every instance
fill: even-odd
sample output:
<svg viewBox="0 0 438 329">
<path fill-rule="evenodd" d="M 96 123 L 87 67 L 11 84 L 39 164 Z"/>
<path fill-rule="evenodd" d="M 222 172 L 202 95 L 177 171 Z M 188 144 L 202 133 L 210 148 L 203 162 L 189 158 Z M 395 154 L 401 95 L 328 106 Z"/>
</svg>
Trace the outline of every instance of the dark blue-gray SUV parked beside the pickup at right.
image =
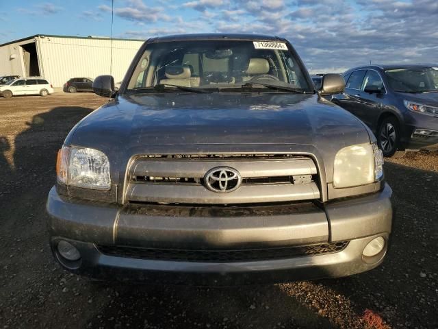
<svg viewBox="0 0 438 329">
<path fill-rule="evenodd" d="M 371 128 L 384 156 L 438 149 L 437 73 L 438 66 L 356 67 L 344 73 L 346 89 L 332 101 Z"/>
</svg>

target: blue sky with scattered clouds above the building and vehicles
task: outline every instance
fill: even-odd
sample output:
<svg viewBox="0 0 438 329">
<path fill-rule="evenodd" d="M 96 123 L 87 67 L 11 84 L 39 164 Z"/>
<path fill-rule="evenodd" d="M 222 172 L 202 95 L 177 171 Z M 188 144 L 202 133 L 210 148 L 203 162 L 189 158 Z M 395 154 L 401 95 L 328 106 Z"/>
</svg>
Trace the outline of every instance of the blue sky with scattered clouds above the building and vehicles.
<svg viewBox="0 0 438 329">
<path fill-rule="evenodd" d="M 0 43 L 109 36 L 110 0 L 0 0 Z M 283 36 L 311 71 L 438 62 L 437 0 L 114 0 L 114 37 L 198 32 Z"/>
</svg>

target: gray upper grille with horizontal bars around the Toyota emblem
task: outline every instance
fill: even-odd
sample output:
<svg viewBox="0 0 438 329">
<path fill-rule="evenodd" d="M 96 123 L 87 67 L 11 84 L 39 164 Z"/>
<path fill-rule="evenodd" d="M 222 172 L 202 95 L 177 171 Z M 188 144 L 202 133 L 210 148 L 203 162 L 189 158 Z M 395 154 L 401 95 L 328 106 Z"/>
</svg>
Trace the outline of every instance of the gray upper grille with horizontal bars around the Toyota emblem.
<svg viewBox="0 0 438 329">
<path fill-rule="evenodd" d="M 229 168 L 240 175 L 227 193 L 216 193 L 209 171 Z M 296 154 L 140 155 L 127 170 L 124 202 L 159 204 L 259 204 L 320 199 L 313 159 Z M 234 188 L 236 187 L 236 188 Z M 218 188 L 216 188 L 217 190 Z"/>
</svg>

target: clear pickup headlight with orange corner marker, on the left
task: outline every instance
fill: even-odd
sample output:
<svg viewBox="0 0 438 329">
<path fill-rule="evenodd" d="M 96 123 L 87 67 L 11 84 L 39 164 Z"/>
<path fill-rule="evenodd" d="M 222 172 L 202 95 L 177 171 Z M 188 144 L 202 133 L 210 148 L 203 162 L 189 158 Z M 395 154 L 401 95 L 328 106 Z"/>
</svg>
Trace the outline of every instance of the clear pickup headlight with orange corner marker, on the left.
<svg viewBox="0 0 438 329">
<path fill-rule="evenodd" d="M 56 173 L 58 181 L 66 185 L 111 188 L 110 161 L 97 149 L 63 146 L 57 154 Z"/>
</svg>

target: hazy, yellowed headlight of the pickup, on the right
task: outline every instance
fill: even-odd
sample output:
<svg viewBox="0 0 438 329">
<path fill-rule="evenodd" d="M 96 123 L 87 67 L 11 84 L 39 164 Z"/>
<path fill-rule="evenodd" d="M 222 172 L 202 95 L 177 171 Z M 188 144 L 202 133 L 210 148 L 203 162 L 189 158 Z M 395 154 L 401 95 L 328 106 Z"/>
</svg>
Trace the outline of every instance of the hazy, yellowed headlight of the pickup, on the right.
<svg viewBox="0 0 438 329">
<path fill-rule="evenodd" d="M 353 187 L 376 182 L 383 176 L 383 154 L 376 143 L 351 145 L 335 156 L 333 186 Z"/>
</svg>

